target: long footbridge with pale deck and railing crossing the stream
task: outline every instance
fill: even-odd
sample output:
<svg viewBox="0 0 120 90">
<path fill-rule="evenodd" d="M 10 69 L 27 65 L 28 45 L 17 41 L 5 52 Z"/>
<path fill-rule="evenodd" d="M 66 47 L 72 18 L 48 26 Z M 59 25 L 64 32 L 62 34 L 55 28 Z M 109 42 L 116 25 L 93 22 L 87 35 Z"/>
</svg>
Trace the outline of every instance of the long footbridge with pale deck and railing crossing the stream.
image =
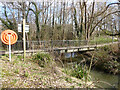
<svg viewBox="0 0 120 90">
<path fill-rule="evenodd" d="M 88 44 L 86 41 L 80 40 L 59 40 L 59 41 L 32 41 L 26 42 L 27 50 L 26 53 L 36 53 L 36 52 L 79 52 L 79 51 L 90 51 L 95 50 L 98 47 L 103 47 L 105 45 L 117 44 L 118 42 L 98 44 L 97 42 L 92 42 Z M 8 54 L 8 50 L 0 50 L 0 54 Z M 22 54 L 22 41 L 18 41 L 15 45 L 12 45 L 12 54 Z"/>
</svg>

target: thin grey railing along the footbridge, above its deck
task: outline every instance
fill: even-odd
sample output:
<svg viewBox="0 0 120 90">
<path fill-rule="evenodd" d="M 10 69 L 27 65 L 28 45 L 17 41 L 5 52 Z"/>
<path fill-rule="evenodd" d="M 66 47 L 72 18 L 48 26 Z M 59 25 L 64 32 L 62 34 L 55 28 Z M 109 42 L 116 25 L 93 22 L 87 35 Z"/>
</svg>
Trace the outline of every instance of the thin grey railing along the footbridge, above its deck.
<svg viewBox="0 0 120 90">
<path fill-rule="evenodd" d="M 109 43 L 109 42 L 104 42 Z M 27 50 L 39 50 L 39 49 L 53 49 L 60 47 L 80 47 L 86 45 L 97 45 L 102 44 L 94 40 L 90 40 L 89 43 L 87 40 L 49 40 L 49 41 L 26 41 Z M 5 48 L 7 50 L 7 48 Z M 12 51 L 14 50 L 23 50 L 23 41 L 17 41 L 12 45 Z"/>
</svg>

